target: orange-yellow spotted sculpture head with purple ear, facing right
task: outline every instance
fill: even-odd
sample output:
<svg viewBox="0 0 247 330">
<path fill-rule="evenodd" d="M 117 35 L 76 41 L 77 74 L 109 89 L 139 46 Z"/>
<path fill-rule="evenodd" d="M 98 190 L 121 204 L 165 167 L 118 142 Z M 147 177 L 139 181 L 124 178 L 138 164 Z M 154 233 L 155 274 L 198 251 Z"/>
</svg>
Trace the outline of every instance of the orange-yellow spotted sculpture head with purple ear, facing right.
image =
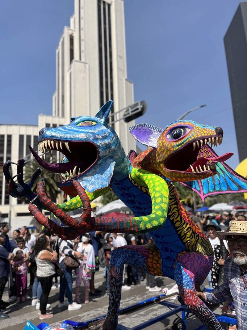
<svg viewBox="0 0 247 330">
<path fill-rule="evenodd" d="M 164 130 L 149 124 L 135 125 L 129 130 L 137 141 L 153 148 L 147 150 L 147 158 L 137 157 L 135 165 L 144 168 L 149 164 L 149 168 L 172 181 L 186 182 L 208 178 L 216 174 L 215 163 L 225 161 L 233 155 L 226 153 L 212 158 L 212 153 L 206 147 L 207 143 L 215 147 L 222 143 L 221 127 L 178 120 Z"/>
</svg>

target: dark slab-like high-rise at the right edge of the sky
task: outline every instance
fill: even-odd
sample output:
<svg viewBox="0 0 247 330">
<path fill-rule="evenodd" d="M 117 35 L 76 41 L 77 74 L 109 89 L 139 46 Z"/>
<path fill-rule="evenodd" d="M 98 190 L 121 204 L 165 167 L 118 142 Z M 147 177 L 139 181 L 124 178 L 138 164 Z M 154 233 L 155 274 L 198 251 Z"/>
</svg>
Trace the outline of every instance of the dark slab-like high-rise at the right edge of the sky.
<svg viewBox="0 0 247 330">
<path fill-rule="evenodd" d="M 247 2 L 240 2 L 224 37 L 239 161 L 247 158 Z"/>
</svg>

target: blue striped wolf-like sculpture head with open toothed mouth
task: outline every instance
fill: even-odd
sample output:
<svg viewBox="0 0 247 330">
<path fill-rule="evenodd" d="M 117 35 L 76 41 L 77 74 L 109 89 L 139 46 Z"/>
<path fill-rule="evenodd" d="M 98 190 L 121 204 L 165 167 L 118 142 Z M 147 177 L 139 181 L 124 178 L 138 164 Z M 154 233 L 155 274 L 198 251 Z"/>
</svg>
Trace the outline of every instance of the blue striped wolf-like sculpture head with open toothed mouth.
<svg viewBox="0 0 247 330">
<path fill-rule="evenodd" d="M 40 130 L 40 151 L 44 154 L 47 150 L 60 151 L 63 154 L 61 163 L 50 164 L 29 147 L 37 162 L 55 173 L 57 186 L 70 196 L 77 195 L 72 180 L 93 192 L 107 187 L 113 175 L 119 179 L 128 173 L 130 162 L 106 120 L 112 104 L 113 101 L 104 104 L 95 117 L 71 118 L 68 125 Z"/>
</svg>

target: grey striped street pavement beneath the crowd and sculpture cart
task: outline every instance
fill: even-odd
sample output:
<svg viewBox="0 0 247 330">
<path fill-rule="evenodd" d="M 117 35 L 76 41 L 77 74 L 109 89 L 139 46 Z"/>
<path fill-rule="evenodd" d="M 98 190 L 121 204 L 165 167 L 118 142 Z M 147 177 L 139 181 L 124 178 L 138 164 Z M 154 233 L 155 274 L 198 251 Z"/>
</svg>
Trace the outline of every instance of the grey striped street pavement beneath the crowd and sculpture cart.
<svg viewBox="0 0 247 330">
<path fill-rule="evenodd" d="M 162 288 L 168 287 L 171 288 L 175 282 L 164 277 L 156 278 L 158 286 Z M 99 271 L 95 276 L 95 286 L 99 289 L 102 289 L 102 295 L 99 297 L 90 297 L 89 304 L 82 304 L 82 308 L 78 311 L 68 311 L 66 308 L 60 309 L 57 307 L 58 304 L 58 295 L 59 289 L 51 290 L 49 295 L 48 302 L 51 304 L 52 313 L 54 317 L 47 320 L 48 324 L 54 322 L 59 322 L 65 319 L 71 319 L 73 321 L 88 321 L 97 316 L 105 314 L 107 312 L 109 297 L 105 294 L 105 280 L 103 278 L 103 272 Z M 140 282 L 140 284 L 132 285 L 131 290 L 122 291 L 122 299 L 120 308 L 130 306 L 139 301 L 151 298 L 162 292 L 151 293 L 146 290 L 145 281 Z M 73 285 L 73 293 L 75 288 Z M 8 301 L 7 292 L 4 293 L 3 300 Z M 81 287 L 81 302 L 84 302 L 84 289 Z M 173 300 L 173 302 L 178 303 L 178 300 Z M 153 304 L 142 308 L 140 310 L 134 311 L 129 314 L 124 314 L 119 316 L 119 323 L 132 328 L 140 323 L 148 321 L 154 317 L 159 316 L 160 314 L 168 312 L 169 309 L 165 306 L 159 304 Z M 35 306 L 31 306 L 31 300 L 24 303 L 12 304 L 7 310 L 7 314 L 10 315 L 10 318 L 5 320 L 0 320 L 0 329 L 8 330 L 23 330 L 26 321 L 30 320 L 33 324 L 38 325 L 41 323 L 41 320 L 38 316 L 38 311 L 35 309 Z M 178 315 L 181 316 L 181 315 Z M 169 324 L 171 325 L 175 318 L 178 316 L 174 315 L 168 319 L 163 320 L 162 322 L 157 322 L 154 325 L 147 327 L 148 330 L 164 330 L 169 329 Z M 199 327 L 202 323 L 192 316 L 187 323 L 187 329 L 194 330 Z"/>
</svg>

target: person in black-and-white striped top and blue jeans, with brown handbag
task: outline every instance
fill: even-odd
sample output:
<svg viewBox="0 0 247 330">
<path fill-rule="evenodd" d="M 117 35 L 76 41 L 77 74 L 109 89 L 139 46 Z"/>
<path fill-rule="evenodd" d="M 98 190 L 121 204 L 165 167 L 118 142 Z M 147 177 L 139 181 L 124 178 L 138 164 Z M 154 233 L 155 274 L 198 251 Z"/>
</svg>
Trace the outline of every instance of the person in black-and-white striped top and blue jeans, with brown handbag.
<svg viewBox="0 0 247 330">
<path fill-rule="evenodd" d="M 81 304 L 77 304 L 75 301 L 73 302 L 72 299 L 72 284 L 73 284 L 72 269 L 65 267 L 64 258 L 66 256 L 69 256 L 69 257 L 75 257 L 77 259 L 83 259 L 83 255 L 78 251 L 74 251 L 74 244 L 70 240 L 66 241 L 59 238 L 58 247 L 60 252 L 60 258 L 59 258 L 60 267 L 64 270 L 62 281 L 60 283 L 58 307 L 62 308 L 68 306 L 68 311 L 78 310 L 81 308 Z M 64 301 L 65 291 L 67 294 L 68 301 Z"/>
</svg>

